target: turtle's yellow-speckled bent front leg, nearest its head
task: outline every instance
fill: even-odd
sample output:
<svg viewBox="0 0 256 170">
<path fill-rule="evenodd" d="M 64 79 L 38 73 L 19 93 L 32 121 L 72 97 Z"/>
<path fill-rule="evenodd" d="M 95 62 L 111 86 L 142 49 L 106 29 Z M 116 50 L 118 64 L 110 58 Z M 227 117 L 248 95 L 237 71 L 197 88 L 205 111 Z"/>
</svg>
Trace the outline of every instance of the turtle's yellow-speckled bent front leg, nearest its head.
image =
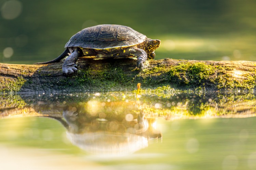
<svg viewBox="0 0 256 170">
<path fill-rule="evenodd" d="M 140 48 L 128 48 L 123 50 L 120 53 L 120 56 L 133 56 L 137 58 L 137 67 L 140 69 L 140 71 L 144 68 L 144 63 L 147 60 L 147 53 L 146 51 L 140 49 Z"/>
</svg>

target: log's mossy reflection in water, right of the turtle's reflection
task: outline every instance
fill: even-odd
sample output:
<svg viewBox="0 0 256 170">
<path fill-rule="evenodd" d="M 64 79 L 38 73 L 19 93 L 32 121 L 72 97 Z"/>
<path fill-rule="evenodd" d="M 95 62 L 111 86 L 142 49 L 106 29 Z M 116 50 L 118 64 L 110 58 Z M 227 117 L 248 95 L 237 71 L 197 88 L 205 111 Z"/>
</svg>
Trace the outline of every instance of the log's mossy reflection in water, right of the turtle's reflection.
<svg viewBox="0 0 256 170">
<path fill-rule="evenodd" d="M 256 113 L 254 91 L 148 91 L 151 106 L 144 112 L 165 119 L 251 117 Z M 157 95 L 156 95 L 157 94 Z M 156 109 L 158 108 L 158 109 Z"/>
</svg>

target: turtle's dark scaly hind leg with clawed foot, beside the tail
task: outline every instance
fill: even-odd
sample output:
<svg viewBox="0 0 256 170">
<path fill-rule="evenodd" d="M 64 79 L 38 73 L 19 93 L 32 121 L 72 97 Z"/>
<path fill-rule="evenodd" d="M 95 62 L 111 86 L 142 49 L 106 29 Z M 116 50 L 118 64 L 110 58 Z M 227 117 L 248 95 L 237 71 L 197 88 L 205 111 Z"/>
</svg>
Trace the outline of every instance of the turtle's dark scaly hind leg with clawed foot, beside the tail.
<svg viewBox="0 0 256 170">
<path fill-rule="evenodd" d="M 62 72 L 66 75 L 73 75 L 77 73 L 76 61 L 80 56 L 80 51 L 78 48 L 74 48 L 68 58 L 64 61 L 62 65 Z"/>
</svg>

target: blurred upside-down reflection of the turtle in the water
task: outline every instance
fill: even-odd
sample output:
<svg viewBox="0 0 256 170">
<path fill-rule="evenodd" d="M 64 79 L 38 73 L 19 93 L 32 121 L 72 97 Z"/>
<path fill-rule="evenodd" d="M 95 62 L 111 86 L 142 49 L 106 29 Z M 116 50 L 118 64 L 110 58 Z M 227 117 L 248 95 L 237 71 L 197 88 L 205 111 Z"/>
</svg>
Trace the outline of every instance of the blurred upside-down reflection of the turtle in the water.
<svg viewBox="0 0 256 170">
<path fill-rule="evenodd" d="M 68 139 L 76 146 L 96 154 L 127 154 L 161 138 L 155 119 L 146 119 L 136 102 L 98 102 L 70 104 L 63 119 Z"/>
</svg>

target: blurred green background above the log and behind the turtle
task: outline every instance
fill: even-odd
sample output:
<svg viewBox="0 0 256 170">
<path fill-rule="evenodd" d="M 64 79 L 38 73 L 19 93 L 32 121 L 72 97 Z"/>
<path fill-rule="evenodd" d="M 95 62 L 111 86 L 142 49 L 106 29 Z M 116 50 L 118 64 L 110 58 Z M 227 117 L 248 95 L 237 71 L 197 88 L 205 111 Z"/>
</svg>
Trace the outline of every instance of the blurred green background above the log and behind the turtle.
<svg viewBox="0 0 256 170">
<path fill-rule="evenodd" d="M 255 9 L 255 0 L 0 0 L 0 62 L 52 60 L 97 24 L 160 39 L 156 59 L 256 61 Z"/>
</svg>

